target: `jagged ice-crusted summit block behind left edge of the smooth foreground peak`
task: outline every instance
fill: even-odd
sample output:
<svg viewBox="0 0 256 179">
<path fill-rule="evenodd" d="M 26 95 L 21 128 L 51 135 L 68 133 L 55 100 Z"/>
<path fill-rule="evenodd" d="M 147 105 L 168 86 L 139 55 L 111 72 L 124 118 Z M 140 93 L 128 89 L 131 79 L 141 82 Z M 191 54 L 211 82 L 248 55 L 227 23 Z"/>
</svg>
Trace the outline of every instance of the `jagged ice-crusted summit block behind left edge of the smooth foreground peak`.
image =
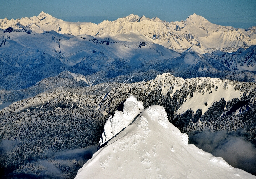
<svg viewBox="0 0 256 179">
<path fill-rule="evenodd" d="M 133 95 L 128 97 L 124 102 L 124 112 L 115 111 L 114 116 L 108 116 L 100 138 L 99 147 L 128 126 L 143 109 L 143 102 L 137 101 L 137 98 Z"/>
</svg>

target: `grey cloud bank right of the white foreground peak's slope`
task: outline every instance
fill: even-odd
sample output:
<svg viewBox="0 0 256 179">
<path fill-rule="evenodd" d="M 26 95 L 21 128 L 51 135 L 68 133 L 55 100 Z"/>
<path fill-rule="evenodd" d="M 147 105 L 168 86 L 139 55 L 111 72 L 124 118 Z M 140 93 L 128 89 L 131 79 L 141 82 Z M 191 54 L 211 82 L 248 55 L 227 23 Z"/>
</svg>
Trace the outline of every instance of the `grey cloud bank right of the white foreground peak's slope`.
<svg viewBox="0 0 256 179">
<path fill-rule="evenodd" d="M 203 132 L 189 136 L 189 143 L 222 157 L 230 165 L 256 175 L 256 147 L 251 142 L 227 131 Z"/>
</svg>

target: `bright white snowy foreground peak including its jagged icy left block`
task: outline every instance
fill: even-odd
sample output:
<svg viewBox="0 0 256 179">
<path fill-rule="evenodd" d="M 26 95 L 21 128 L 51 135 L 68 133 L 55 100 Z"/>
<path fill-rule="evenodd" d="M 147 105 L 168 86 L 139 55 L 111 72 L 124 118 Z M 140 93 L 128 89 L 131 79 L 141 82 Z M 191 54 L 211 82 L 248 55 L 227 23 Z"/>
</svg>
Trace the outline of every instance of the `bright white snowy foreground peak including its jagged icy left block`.
<svg viewBox="0 0 256 179">
<path fill-rule="evenodd" d="M 188 135 L 182 134 L 168 121 L 162 106 L 138 109 L 135 99 L 131 96 L 124 102 L 124 111 L 128 112 L 130 109 L 134 120 L 125 118 L 121 111 L 108 118 L 104 132 L 116 126 L 115 130 L 112 128 L 111 134 L 113 136 L 117 132 L 116 136 L 100 147 L 79 169 L 76 179 L 256 178 L 243 170 L 233 168 L 222 158 L 188 144 Z M 136 115 L 134 111 L 139 114 Z M 126 120 L 131 122 L 127 126 Z M 123 126 L 126 127 L 123 129 Z"/>
</svg>

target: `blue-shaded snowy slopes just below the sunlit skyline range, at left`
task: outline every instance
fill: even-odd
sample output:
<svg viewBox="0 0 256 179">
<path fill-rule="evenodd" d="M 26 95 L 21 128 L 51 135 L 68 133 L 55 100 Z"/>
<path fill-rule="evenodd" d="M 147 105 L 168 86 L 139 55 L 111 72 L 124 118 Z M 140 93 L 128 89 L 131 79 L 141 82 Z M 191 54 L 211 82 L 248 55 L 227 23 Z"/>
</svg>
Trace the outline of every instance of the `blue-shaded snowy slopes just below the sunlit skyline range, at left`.
<svg viewBox="0 0 256 179">
<path fill-rule="evenodd" d="M 28 34 L 25 30 L 10 33 L 0 30 L 0 51 L 2 54 L 8 54 L 11 58 L 15 58 L 14 64 L 19 64 L 19 60 L 34 61 L 41 54 L 49 54 L 68 66 L 74 66 L 83 61 L 87 62 L 88 59 L 98 59 L 103 65 L 114 59 L 131 60 L 134 63 L 135 61 L 143 62 L 146 59 L 166 59 L 180 56 L 179 53 L 161 45 L 138 41 L 139 39 L 133 42 L 114 41 L 90 35 L 58 34 L 55 31 L 45 31 L 42 34 L 32 31 Z M 21 53 L 22 50 L 29 52 Z M 17 59 L 19 60 L 16 61 Z M 8 60 L 11 59 L 8 58 Z M 99 67 L 94 66 L 93 68 Z"/>
</svg>

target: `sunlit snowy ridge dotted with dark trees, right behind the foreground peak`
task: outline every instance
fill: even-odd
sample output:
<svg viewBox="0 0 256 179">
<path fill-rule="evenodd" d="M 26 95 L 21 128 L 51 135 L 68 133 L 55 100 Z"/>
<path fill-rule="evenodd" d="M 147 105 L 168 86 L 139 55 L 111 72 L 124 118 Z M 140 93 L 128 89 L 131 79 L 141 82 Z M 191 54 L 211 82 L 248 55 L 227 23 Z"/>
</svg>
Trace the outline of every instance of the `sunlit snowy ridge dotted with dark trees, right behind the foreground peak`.
<svg viewBox="0 0 256 179">
<path fill-rule="evenodd" d="M 157 75 L 155 79 L 145 82 L 143 85 L 143 87 L 149 89 L 149 92 L 159 86 L 160 89 L 157 90 L 161 91 L 161 95 L 169 94 L 170 98 L 175 93 L 186 93 L 184 99 L 182 94 L 179 94 L 177 103 L 180 105 L 178 105 L 179 108 L 175 111 L 176 114 L 182 114 L 188 109 L 195 112 L 199 108 L 202 109 L 202 114 L 204 114 L 214 102 L 220 101 L 221 98 L 224 98 L 226 101 L 234 98 L 241 99 L 244 93 L 255 90 L 256 87 L 254 83 L 249 85 L 245 82 L 210 77 L 183 79 L 174 77 L 169 73 Z"/>
</svg>

